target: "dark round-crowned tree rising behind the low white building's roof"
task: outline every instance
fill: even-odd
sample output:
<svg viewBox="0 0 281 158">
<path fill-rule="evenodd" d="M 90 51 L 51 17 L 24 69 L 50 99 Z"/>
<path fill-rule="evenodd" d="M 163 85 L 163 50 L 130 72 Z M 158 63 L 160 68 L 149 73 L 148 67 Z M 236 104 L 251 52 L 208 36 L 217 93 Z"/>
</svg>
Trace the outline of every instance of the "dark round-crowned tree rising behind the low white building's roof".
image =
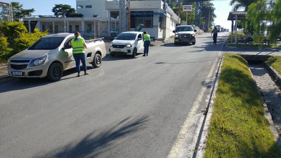
<svg viewBox="0 0 281 158">
<path fill-rule="evenodd" d="M 55 4 L 55 7 L 53 7 L 52 12 L 56 17 L 63 17 L 64 14 L 66 17 L 68 17 L 71 14 L 75 14 L 75 9 L 71 8 L 71 6 L 68 4 Z"/>
</svg>

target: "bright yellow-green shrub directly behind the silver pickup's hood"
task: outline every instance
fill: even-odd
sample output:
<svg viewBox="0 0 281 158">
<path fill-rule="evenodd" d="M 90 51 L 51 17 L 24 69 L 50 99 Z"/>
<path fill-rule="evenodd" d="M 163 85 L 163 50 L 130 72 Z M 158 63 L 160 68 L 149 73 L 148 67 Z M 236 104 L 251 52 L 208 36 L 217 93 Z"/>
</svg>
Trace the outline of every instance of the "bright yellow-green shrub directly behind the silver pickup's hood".
<svg viewBox="0 0 281 158">
<path fill-rule="evenodd" d="M 38 28 L 34 29 L 34 32 L 29 33 L 20 33 L 19 38 L 16 38 L 14 41 L 14 52 L 18 53 L 24 49 L 27 49 L 30 47 L 35 41 L 37 41 L 39 38 L 48 35 L 49 33 L 47 31 L 40 32 Z"/>
</svg>

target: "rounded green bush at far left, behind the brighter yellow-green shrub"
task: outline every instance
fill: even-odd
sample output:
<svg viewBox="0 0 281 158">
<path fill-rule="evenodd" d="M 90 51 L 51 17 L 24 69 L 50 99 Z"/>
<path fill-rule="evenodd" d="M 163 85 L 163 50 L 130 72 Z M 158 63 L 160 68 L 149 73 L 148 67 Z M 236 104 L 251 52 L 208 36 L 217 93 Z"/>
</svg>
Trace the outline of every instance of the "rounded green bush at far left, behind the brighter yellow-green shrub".
<svg viewBox="0 0 281 158">
<path fill-rule="evenodd" d="M 4 22 L 2 33 L 9 41 L 13 41 L 20 36 L 19 33 L 28 33 L 28 31 L 23 22 Z"/>
</svg>

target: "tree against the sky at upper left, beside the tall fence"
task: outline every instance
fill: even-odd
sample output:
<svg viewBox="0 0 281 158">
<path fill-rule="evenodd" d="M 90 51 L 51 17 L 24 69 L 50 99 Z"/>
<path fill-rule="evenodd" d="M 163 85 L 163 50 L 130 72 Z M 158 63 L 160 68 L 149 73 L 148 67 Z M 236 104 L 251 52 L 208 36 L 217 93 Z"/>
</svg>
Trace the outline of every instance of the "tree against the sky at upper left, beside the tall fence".
<svg viewBox="0 0 281 158">
<path fill-rule="evenodd" d="M 25 16 L 31 16 L 35 10 L 32 9 L 23 9 L 22 4 L 19 2 L 12 2 L 12 8 L 13 8 L 13 20 L 14 21 L 21 21 L 23 17 Z"/>
</svg>

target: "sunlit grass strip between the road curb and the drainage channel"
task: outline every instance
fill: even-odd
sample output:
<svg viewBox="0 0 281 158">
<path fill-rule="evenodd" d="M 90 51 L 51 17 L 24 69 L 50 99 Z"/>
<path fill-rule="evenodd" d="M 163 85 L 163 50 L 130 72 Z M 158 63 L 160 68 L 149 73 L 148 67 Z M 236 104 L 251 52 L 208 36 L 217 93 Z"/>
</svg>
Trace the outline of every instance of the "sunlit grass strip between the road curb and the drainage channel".
<svg viewBox="0 0 281 158">
<path fill-rule="evenodd" d="M 225 54 L 204 157 L 280 157 L 247 62 Z"/>
</svg>

